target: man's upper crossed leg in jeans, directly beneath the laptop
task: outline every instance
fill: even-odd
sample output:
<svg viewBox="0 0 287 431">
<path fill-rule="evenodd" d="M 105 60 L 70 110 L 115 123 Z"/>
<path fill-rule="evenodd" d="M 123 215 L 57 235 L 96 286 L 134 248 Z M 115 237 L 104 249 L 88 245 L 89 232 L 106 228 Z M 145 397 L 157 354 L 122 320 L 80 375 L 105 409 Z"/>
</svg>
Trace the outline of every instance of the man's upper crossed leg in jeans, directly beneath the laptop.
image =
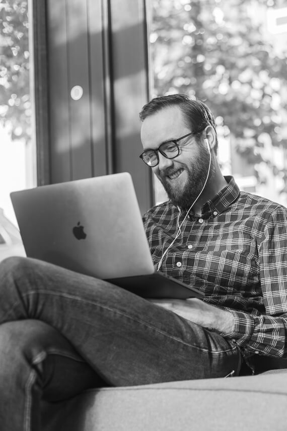
<svg viewBox="0 0 287 431">
<path fill-rule="evenodd" d="M 32 259 L 0 266 L 0 323 L 38 319 L 56 328 L 108 385 L 223 377 L 238 347 L 102 280 Z"/>
</svg>

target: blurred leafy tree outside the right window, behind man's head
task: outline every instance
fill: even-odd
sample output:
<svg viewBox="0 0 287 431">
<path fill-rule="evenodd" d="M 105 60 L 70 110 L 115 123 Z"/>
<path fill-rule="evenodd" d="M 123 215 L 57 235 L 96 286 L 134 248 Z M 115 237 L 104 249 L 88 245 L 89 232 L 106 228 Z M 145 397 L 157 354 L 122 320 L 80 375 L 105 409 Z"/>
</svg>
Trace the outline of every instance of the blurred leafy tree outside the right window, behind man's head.
<svg viewBox="0 0 287 431">
<path fill-rule="evenodd" d="M 262 19 L 281 3 L 152 0 L 150 42 L 154 96 L 179 92 L 206 101 L 219 133 L 234 137 L 246 161 L 267 164 L 286 183 L 284 169 L 273 166 L 265 151 L 266 145 L 287 147 L 281 129 L 287 50 L 276 53 Z M 259 170 L 257 176 L 264 181 Z"/>
</svg>

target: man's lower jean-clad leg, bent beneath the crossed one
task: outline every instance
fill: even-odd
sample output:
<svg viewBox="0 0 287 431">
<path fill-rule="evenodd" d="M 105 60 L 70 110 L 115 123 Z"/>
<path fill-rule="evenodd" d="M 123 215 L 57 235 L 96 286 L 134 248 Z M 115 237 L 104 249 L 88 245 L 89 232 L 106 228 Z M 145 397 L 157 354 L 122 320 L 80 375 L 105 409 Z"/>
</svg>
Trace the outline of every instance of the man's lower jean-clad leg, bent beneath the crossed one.
<svg viewBox="0 0 287 431">
<path fill-rule="evenodd" d="M 40 402 L 61 401 L 103 381 L 51 326 L 0 325 L 0 429 L 39 431 Z"/>
</svg>

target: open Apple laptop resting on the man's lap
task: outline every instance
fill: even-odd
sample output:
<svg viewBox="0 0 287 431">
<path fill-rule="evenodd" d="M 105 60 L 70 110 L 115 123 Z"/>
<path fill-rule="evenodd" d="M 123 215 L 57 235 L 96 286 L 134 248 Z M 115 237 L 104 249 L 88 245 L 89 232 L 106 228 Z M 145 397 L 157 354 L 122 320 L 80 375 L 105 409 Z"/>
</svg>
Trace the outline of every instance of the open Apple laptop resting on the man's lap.
<svg viewBox="0 0 287 431">
<path fill-rule="evenodd" d="M 26 255 L 146 298 L 201 298 L 154 268 L 129 173 L 11 193 Z"/>
</svg>

